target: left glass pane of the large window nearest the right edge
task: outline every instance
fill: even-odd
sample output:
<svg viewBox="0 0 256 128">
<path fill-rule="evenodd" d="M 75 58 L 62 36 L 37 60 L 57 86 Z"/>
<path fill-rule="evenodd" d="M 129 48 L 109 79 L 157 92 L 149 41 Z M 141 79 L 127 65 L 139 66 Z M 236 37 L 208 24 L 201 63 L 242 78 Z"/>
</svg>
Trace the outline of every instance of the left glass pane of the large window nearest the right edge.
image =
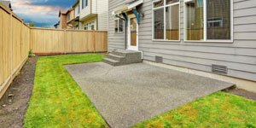
<svg viewBox="0 0 256 128">
<path fill-rule="evenodd" d="M 185 3 L 187 40 L 202 40 L 204 38 L 204 13 L 201 3 L 203 0 L 192 0 Z"/>
</svg>

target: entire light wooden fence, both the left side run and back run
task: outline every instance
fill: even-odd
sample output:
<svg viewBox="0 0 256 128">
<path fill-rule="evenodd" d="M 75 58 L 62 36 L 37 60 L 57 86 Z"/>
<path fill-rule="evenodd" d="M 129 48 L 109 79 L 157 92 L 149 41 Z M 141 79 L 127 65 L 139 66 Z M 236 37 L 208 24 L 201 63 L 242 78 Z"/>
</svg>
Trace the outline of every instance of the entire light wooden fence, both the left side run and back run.
<svg viewBox="0 0 256 128">
<path fill-rule="evenodd" d="M 0 98 L 27 60 L 36 54 L 105 52 L 108 32 L 31 28 L 0 3 Z"/>
</svg>

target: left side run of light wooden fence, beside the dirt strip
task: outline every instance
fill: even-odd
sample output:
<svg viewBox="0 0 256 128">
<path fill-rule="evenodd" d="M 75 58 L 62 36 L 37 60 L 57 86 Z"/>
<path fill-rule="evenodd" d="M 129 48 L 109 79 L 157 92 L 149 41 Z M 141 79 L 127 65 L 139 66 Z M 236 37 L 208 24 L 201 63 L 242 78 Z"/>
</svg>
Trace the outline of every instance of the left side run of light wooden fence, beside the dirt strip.
<svg viewBox="0 0 256 128">
<path fill-rule="evenodd" d="M 29 29 L 0 3 L 0 98 L 27 59 Z"/>
</svg>

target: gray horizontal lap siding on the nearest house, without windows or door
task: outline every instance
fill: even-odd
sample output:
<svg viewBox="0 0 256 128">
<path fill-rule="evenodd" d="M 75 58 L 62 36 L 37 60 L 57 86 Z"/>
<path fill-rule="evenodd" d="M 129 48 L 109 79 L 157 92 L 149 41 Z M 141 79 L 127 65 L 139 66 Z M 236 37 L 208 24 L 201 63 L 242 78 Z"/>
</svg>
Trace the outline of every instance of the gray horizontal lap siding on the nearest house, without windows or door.
<svg viewBox="0 0 256 128">
<path fill-rule="evenodd" d="M 124 49 L 124 33 L 113 32 L 113 9 L 123 0 L 109 1 L 109 51 Z M 139 26 L 139 50 L 143 59 L 154 61 L 155 55 L 164 57 L 164 63 L 211 72 L 212 64 L 229 68 L 229 76 L 256 81 L 256 1 L 233 0 L 234 42 L 184 42 L 183 0 L 180 4 L 180 41 L 152 41 L 152 0 L 144 0 L 139 9 L 145 15 Z"/>
</svg>

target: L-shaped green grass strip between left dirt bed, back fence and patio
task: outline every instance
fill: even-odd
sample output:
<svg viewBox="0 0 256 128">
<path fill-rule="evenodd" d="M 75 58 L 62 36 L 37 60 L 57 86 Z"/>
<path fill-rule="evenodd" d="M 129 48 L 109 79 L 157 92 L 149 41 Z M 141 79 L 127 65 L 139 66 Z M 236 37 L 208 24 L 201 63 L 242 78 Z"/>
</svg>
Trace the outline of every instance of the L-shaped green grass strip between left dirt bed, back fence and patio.
<svg viewBox="0 0 256 128">
<path fill-rule="evenodd" d="M 61 55 L 38 60 L 24 127 L 108 127 L 63 65 L 102 61 L 104 55 Z"/>
</svg>

